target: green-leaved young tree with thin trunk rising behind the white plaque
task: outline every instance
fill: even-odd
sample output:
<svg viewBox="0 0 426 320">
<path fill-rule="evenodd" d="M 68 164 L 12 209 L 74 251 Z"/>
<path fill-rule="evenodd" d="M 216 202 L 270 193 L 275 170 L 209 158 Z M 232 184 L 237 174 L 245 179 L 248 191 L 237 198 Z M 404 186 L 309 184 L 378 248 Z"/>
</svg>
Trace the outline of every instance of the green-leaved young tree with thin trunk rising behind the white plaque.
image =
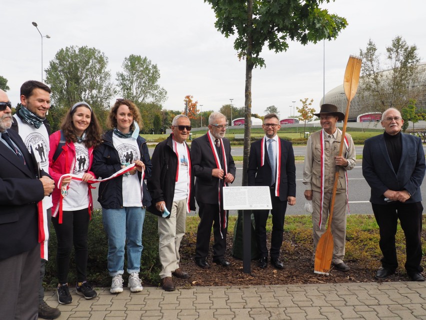
<svg viewBox="0 0 426 320">
<path fill-rule="evenodd" d="M 226 38 L 236 34 L 234 49 L 239 59 L 245 59 L 244 151 L 242 185 L 247 185 L 248 154 L 250 152 L 251 73 L 254 67 L 264 67 L 260 57 L 267 45 L 269 50 L 282 52 L 289 41 L 303 45 L 323 39 L 334 39 L 346 27 L 344 18 L 328 14 L 319 5 L 329 0 L 204 0 L 211 5 L 214 26 Z"/>
</svg>

